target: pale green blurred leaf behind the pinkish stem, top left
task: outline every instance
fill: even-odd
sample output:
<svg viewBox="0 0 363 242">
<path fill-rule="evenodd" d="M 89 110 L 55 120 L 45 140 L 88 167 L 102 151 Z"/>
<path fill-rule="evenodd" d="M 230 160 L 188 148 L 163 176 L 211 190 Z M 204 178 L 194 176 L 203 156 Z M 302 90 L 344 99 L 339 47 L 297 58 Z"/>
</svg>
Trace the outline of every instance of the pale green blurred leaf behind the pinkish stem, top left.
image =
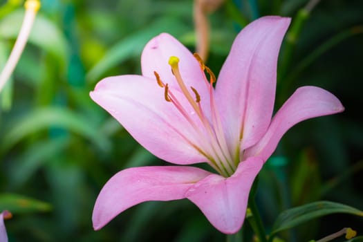
<svg viewBox="0 0 363 242">
<path fill-rule="evenodd" d="M 24 10 L 17 10 L 6 15 L 0 21 L 0 39 L 16 39 L 23 19 Z M 52 21 L 40 13 L 35 18 L 28 41 L 52 53 L 65 64 L 68 53 L 66 38 Z"/>
</svg>

